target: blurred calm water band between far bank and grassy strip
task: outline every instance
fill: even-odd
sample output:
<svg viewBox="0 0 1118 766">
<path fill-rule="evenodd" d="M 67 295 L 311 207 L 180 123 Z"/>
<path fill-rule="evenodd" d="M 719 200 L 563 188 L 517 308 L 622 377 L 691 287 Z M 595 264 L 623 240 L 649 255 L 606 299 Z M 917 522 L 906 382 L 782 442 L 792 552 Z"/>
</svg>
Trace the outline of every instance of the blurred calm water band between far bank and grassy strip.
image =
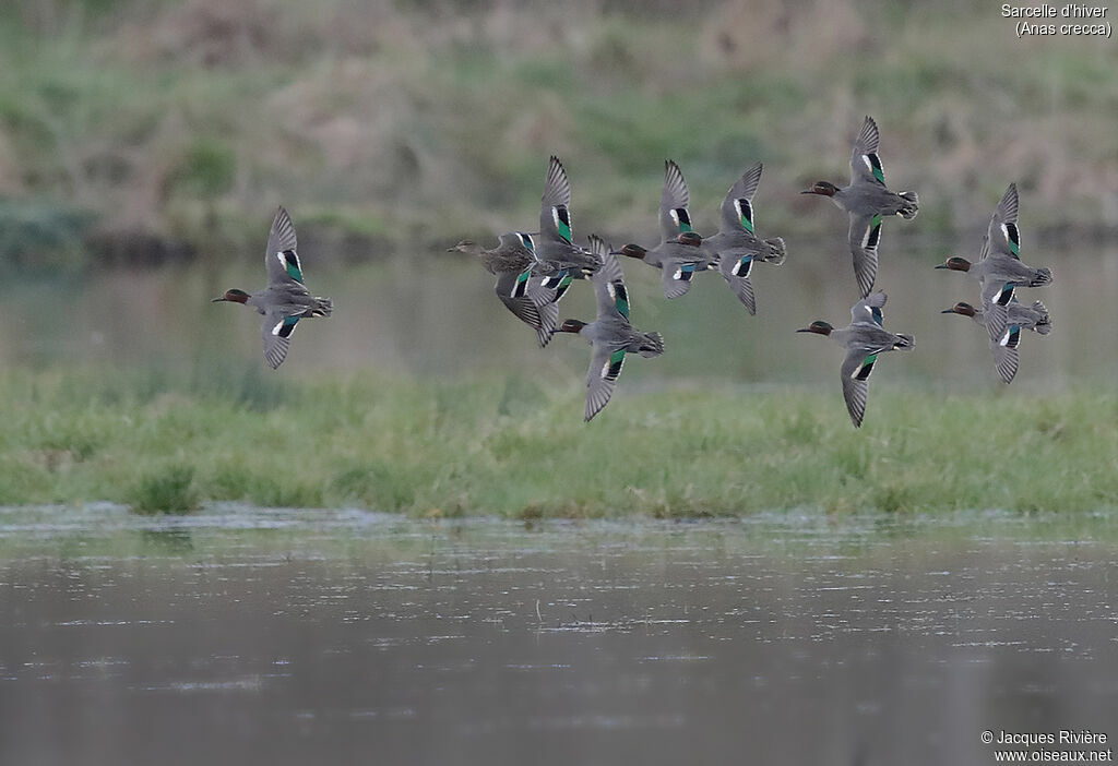
<svg viewBox="0 0 1118 766">
<path fill-rule="evenodd" d="M 932 269 L 947 255 L 970 255 L 977 236 L 942 245 L 889 241 L 878 279 L 890 295 L 885 324 L 915 334 L 917 348 L 903 358 L 890 357 L 877 385 L 932 382 L 959 391 L 992 384 L 995 374 L 982 329 L 963 317 L 939 314 L 957 300 L 974 303 L 977 285 L 966 275 Z M 746 314 L 717 275 L 700 275 L 691 294 L 667 301 L 659 272 L 641 262 L 624 264 L 634 323 L 660 331 L 667 351 L 655 361 L 628 365 L 623 385 L 680 379 L 832 384 L 841 353 L 794 331 L 815 318 L 836 326 L 849 320 L 854 299 L 850 255 L 844 239 L 790 240 L 788 247 L 792 255 L 784 266 L 756 269 L 756 317 Z M 1022 299 L 1043 299 L 1055 328 L 1048 337 L 1027 334 L 1014 390 L 1114 380 L 1118 249 L 1031 243 L 1029 256 L 1030 262 L 1051 266 L 1055 283 L 1022 290 Z M 230 253 L 226 262 L 231 266 L 221 274 L 164 269 L 95 274 L 72 284 L 6 284 L 0 287 L 6 309 L 0 366 L 91 361 L 205 370 L 218 357 L 260 365 L 258 317 L 240 306 L 209 303 L 227 287 L 259 288 L 260 260 L 254 250 Z M 578 338 L 558 337 L 547 350 L 537 348 L 534 334 L 493 296 L 491 277 L 464 257 L 417 252 L 357 268 L 332 265 L 311 251 L 303 260 L 311 287 L 333 297 L 337 313 L 300 325 L 283 376 L 376 368 L 577 381 L 586 367 L 588 352 Z M 587 288 L 575 286 L 562 316 L 593 316 Z"/>
</svg>

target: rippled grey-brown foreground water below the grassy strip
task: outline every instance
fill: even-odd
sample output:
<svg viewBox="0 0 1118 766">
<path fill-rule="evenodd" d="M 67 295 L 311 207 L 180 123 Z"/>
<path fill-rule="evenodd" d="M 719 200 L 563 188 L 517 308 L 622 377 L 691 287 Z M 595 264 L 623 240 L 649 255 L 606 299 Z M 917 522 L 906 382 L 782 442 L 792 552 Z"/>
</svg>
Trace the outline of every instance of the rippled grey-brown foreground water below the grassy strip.
<svg viewBox="0 0 1118 766">
<path fill-rule="evenodd" d="M 1112 741 L 1112 544 L 1035 525 L 0 511 L 0 763 L 967 765 L 993 762 L 984 729 Z"/>
</svg>

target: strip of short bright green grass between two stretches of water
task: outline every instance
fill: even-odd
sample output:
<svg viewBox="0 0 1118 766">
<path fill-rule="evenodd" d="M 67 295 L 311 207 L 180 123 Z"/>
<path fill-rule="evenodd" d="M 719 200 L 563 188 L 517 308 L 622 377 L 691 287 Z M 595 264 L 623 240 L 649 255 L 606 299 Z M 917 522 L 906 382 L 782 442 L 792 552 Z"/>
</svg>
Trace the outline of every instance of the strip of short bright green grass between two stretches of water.
<svg viewBox="0 0 1118 766">
<path fill-rule="evenodd" d="M 1118 394 L 942 398 L 626 390 L 589 424 L 578 387 L 255 372 L 9 373 L 0 505 L 211 500 L 414 516 L 693 517 L 1118 506 Z"/>
</svg>

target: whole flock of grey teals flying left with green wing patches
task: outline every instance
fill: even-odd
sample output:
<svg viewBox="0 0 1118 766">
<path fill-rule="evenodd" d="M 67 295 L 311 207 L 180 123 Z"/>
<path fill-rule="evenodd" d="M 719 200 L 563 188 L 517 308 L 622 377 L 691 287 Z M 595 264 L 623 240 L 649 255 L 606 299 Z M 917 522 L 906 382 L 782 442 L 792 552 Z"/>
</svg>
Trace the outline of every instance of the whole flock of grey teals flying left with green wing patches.
<svg viewBox="0 0 1118 766">
<path fill-rule="evenodd" d="M 869 377 L 878 355 L 911 350 L 915 345 L 911 335 L 884 328 L 881 309 L 887 297 L 873 290 L 883 218 L 912 219 L 919 210 L 916 192 L 892 192 L 885 186 L 878 143 L 878 126 L 866 117 L 854 141 L 850 184 L 840 188 L 819 181 L 802 192 L 828 197 L 850 216 L 850 250 L 861 293 L 861 299 L 851 308 L 851 323 L 835 328 L 816 320 L 797 332 L 825 335 L 846 351 L 841 367 L 843 398 L 855 427 L 862 424 L 865 414 Z M 761 239 L 754 230 L 754 195 L 761 170 L 758 162 L 742 173 L 722 201 L 718 233 L 701 237 L 692 229 L 683 173 L 669 160 L 660 201 L 660 243 L 652 249 L 628 243 L 613 250 L 596 236 L 589 238 L 588 248 L 575 243 L 570 182 L 562 164 L 552 156 L 543 184 L 538 232 L 503 233 L 492 249 L 464 240 L 451 250 L 477 257 L 496 277 L 498 297 L 517 318 L 536 331 L 541 347 L 555 333 L 575 333 L 590 343 L 585 411 L 588 421 L 609 402 L 626 354 L 652 357 L 664 351 L 659 333 L 641 332 L 629 323 L 629 296 L 617 256 L 636 258 L 660 269 L 667 298 L 685 295 L 695 274 L 717 270 L 746 309 L 756 314 L 750 281 L 752 266 L 756 262 L 779 266 L 786 252 L 783 239 Z M 995 366 L 1006 383 L 1017 372 L 1021 331 L 1046 335 L 1052 328 L 1044 304 L 1038 300 L 1026 306 L 1017 301 L 1016 288 L 1042 287 L 1052 281 L 1049 269 L 1032 268 L 1021 261 L 1020 245 L 1017 189 L 1011 183 L 991 217 L 978 260 L 972 264 L 955 257 L 936 267 L 977 278 L 977 305 L 960 301 L 942 313 L 968 316 L 986 328 Z M 333 312 L 329 298 L 307 291 L 296 250 L 295 228 L 287 212 L 280 208 L 265 252 L 268 286 L 253 294 L 231 289 L 215 298 L 215 303 L 247 304 L 264 315 L 264 357 L 273 370 L 286 357 L 291 334 L 300 319 L 330 316 Z M 597 317 L 590 323 L 579 319 L 560 323 L 559 300 L 577 279 L 589 279 L 593 284 Z"/>
</svg>

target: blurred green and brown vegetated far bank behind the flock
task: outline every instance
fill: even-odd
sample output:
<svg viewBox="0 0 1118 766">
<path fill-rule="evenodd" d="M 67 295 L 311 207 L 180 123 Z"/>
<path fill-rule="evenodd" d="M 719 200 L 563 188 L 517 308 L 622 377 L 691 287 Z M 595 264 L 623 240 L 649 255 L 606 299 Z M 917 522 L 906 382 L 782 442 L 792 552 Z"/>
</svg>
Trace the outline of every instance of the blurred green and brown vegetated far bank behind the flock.
<svg viewBox="0 0 1118 766">
<path fill-rule="evenodd" d="M 651 236 L 665 157 L 704 226 L 759 159 L 761 229 L 830 232 L 797 192 L 846 176 L 866 113 L 925 234 L 1016 180 L 1034 230 L 1098 238 L 1116 50 L 961 1 L 8 0 L 0 259 L 255 250 L 281 202 L 325 258 L 445 248 L 531 227 L 552 153 L 581 234 Z"/>
</svg>

